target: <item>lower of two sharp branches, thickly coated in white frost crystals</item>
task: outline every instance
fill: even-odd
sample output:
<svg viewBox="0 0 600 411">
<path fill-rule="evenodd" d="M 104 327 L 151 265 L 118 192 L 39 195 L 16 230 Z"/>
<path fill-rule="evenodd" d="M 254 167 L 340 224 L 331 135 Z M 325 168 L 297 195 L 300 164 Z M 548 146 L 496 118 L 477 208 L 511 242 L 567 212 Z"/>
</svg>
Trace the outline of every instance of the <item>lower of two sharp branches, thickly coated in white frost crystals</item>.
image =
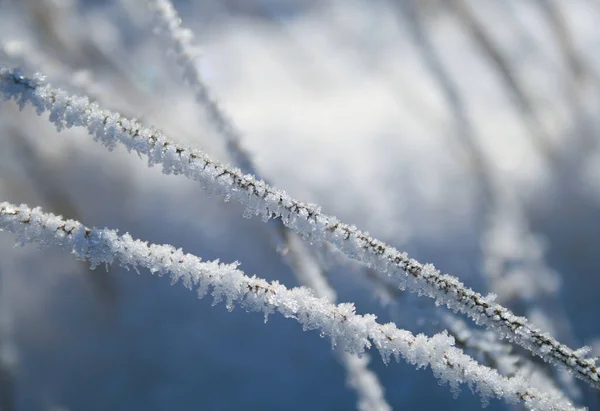
<svg viewBox="0 0 600 411">
<path fill-rule="evenodd" d="M 169 245 L 155 245 L 122 236 L 109 229 L 88 228 L 74 220 L 46 214 L 40 208 L 0 204 L 0 229 L 15 233 L 19 244 L 56 245 L 71 250 L 92 268 L 118 261 L 125 267 L 148 268 L 158 275 L 168 274 L 172 283 L 182 281 L 198 296 L 208 292 L 215 303 L 225 301 L 229 310 L 234 303 L 248 311 L 262 311 L 265 319 L 279 312 L 298 321 L 304 330 L 320 330 L 332 345 L 351 354 L 362 354 L 375 346 L 384 361 L 400 357 L 418 368 L 429 366 L 434 375 L 454 391 L 466 383 L 487 401 L 495 396 L 509 403 L 523 402 L 539 410 L 570 410 L 574 407 L 549 393 L 530 387 L 523 377 L 502 377 L 495 370 L 477 364 L 454 346 L 446 333 L 428 338 L 396 328 L 393 323 L 379 324 L 371 314 L 358 315 L 353 304 L 334 305 L 316 298 L 304 287 L 287 289 L 277 281 L 248 277 L 238 263 L 202 262 L 200 258 Z"/>
</svg>

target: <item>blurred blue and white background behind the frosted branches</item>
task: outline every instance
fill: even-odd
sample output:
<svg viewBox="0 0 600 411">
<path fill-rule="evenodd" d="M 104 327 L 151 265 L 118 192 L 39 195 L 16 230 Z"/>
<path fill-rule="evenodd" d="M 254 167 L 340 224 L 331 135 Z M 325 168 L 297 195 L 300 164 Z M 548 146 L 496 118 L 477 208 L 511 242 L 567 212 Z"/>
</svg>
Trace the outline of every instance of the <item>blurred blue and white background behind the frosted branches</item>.
<svg viewBox="0 0 600 411">
<path fill-rule="evenodd" d="M 600 2 L 175 5 L 206 83 L 276 186 L 498 294 L 560 341 L 597 349 Z M 144 1 L 0 1 L 0 42 L 0 65 L 41 71 L 229 161 Z M 0 105 L 0 132 L 1 201 L 296 285 L 259 219 L 185 178 L 109 153 L 86 130 L 57 133 L 13 102 Z M 329 344 L 295 324 L 265 326 L 164 279 L 89 272 L 67 253 L 14 243 L 0 235 L 1 411 L 355 405 Z M 340 301 L 380 309 L 369 280 L 343 264 L 330 274 Z M 429 301 L 394 304 L 399 326 L 439 331 L 427 317 L 435 309 L 421 311 Z M 524 373 L 600 406 L 597 393 L 532 361 Z M 468 390 L 453 401 L 428 371 L 377 370 L 395 409 L 479 406 Z"/>
</svg>

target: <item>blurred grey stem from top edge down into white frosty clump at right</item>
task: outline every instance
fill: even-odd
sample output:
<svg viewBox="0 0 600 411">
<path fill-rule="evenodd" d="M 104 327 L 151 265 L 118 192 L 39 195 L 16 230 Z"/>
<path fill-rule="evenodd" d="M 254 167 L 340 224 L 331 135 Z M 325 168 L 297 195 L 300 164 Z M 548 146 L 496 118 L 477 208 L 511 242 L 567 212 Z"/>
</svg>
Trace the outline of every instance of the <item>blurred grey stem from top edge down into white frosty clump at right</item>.
<svg viewBox="0 0 600 411">
<path fill-rule="evenodd" d="M 513 228 L 518 227 L 522 230 L 519 231 L 519 238 L 512 238 L 512 241 L 507 242 L 506 244 L 511 245 L 516 250 L 519 250 L 520 253 L 526 253 L 524 250 L 528 250 L 531 245 L 531 241 L 529 243 L 524 243 L 524 238 L 526 235 L 528 237 L 533 237 L 531 233 L 528 233 L 528 226 L 526 221 L 522 221 L 522 218 L 519 219 L 518 224 L 515 222 L 515 218 L 517 216 L 521 216 L 521 206 L 517 198 L 513 198 L 513 201 L 507 201 L 507 197 L 516 197 L 512 190 L 514 187 L 502 184 L 502 180 L 504 176 L 499 175 L 497 171 L 491 167 L 486 161 L 485 153 L 479 147 L 477 136 L 475 134 L 474 128 L 471 124 L 468 109 L 465 105 L 464 99 L 460 93 L 459 87 L 456 84 L 456 81 L 450 75 L 447 67 L 445 66 L 443 59 L 440 56 L 439 51 L 433 44 L 428 30 L 425 27 L 425 21 L 423 21 L 422 10 L 417 2 L 414 0 L 398 0 L 392 3 L 392 5 L 397 9 L 398 14 L 401 17 L 402 23 L 408 28 L 409 33 L 412 35 L 414 42 L 419 48 L 421 57 L 423 62 L 425 63 L 429 74 L 432 79 L 435 80 L 437 84 L 437 88 L 441 90 L 443 93 L 446 104 L 452 110 L 452 118 L 456 122 L 457 133 L 456 136 L 459 139 L 460 143 L 466 148 L 466 151 L 470 154 L 470 159 L 472 159 L 473 164 L 475 165 L 475 176 L 477 177 L 478 187 L 482 193 L 483 197 L 483 209 L 492 215 L 492 217 L 488 217 L 488 220 L 492 222 L 497 222 L 496 225 L 490 225 L 489 222 L 486 224 L 485 233 L 486 236 L 494 236 L 494 239 L 498 237 L 498 233 L 505 232 L 506 227 Z M 465 6 L 466 7 L 466 6 Z M 496 213 L 500 211 L 502 213 L 501 219 L 494 219 Z M 521 216 L 522 217 L 522 216 Z M 514 223 L 514 224 L 513 224 Z M 529 239 L 529 238 L 527 238 Z M 485 238 L 483 241 L 483 256 L 486 263 L 486 267 L 484 267 L 483 273 L 490 280 L 490 275 L 488 270 L 488 266 L 490 263 L 490 259 L 494 260 L 495 270 L 494 277 L 491 278 L 490 281 L 490 290 L 492 290 L 496 295 L 499 296 L 499 302 L 506 306 L 506 299 L 503 299 L 504 293 L 503 291 L 506 289 L 508 285 L 512 290 L 514 290 L 514 294 L 523 293 L 523 284 L 531 284 L 531 292 L 541 291 L 541 289 L 551 286 L 555 284 L 556 281 L 547 281 L 548 276 L 554 276 L 555 274 L 549 274 L 549 270 L 545 266 L 543 261 L 543 256 L 541 254 L 536 256 L 536 265 L 535 269 L 529 270 L 513 270 L 519 271 L 519 279 L 522 281 L 515 281 L 515 276 L 510 274 L 516 273 L 505 273 L 504 262 L 507 259 L 503 259 L 504 256 L 498 256 L 494 258 L 494 248 L 496 244 L 490 244 L 488 238 Z M 503 239 L 505 240 L 505 239 Z M 528 245 L 529 244 L 529 245 Z M 492 256 L 490 258 L 490 256 Z M 531 264 L 530 264 L 531 265 Z M 499 281 L 502 280 L 504 287 L 500 290 L 498 289 Z M 494 281 L 496 280 L 496 281 Z M 523 282 L 524 281 L 524 282 Z M 525 286 L 527 289 L 528 287 Z M 552 301 L 553 306 L 559 307 L 560 305 L 556 305 L 555 299 Z M 508 306 L 510 307 L 510 306 Z M 538 313 L 541 313 L 542 310 L 539 310 Z M 527 316 L 530 317 L 530 311 L 527 312 Z M 530 317 L 531 318 L 531 317 Z M 539 316 L 537 317 L 539 318 Z M 442 322 L 448 331 L 453 334 L 456 338 L 456 334 L 453 333 L 453 325 L 460 324 L 458 319 L 454 319 L 451 316 L 442 317 Z M 554 334 L 554 333 L 553 333 Z M 555 334 L 556 335 L 556 334 Z M 560 334 L 558 336 L 561 336 Z M 564 335 L 562 335 L 564 338 Z M 458 341 L 458 339 L 457 339 Z M 489 343 L 479 344 L 475 349 L 481 352 L 484 357 L 489 359 L 488 364 L 500 364 L 500 363 L 516 363 L 516 361 L 505 361 L 507 358 L 512 357 L 516 358 L 514 354 L 510 354 L 508 352 L 503 353 L 503 350 L 500 351 L 490 351 L 487 352 L 486 348 L 492 347 Z M 505 359 L 500 359 L 497 357 L 506 357 Z M 534 364 L 531 361 L 521 361 L 523 364 L 527 364 L 532 368 L 540 368 L 538 374 L 543 374 L 544 370 L 541 369 L 537 364 Z M 494 367 L 495 368 L 495 367 Z M 563 371 L 564 370 L 559 370 Z M 571 377 L 572 380 L 574 378 Z M 547 383 L 548 381 L 544 381 Z M 574 384 L 571 384 L 571 388 L 576 388 Z M 571 393 L 576 392 L 574 389 L 569 390 Z"/>
</svg>

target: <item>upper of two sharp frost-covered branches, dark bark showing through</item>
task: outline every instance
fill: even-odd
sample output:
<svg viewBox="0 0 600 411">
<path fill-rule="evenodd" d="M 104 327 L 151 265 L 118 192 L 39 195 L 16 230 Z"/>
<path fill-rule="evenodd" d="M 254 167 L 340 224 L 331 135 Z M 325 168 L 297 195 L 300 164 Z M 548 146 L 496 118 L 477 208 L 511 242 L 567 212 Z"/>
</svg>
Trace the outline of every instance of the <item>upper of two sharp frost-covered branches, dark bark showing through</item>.
<svg viewBox="0 0 600 411">
<path fill-rule="evenodd" d="M 246 205 L 248 214 L 261 215 L 265 221 L 280 217 L 286 226 L 306 239 L 317 243 L 329 241 L 348 256 L 395 276 L 401 287 L 467 314 L 477 323 L 600 388 L 600 370 L 594 360 L 559 343 L 529 324 L 526 318 L 515 316 L 494 303 L 492 297 L 476 293 L 456 277 L 440 273 L 432 264 L 421 264 L 355 226 L 340 222 L 316 205 L 305 204 L 237 168 L 220 164 L 199 149 L 178 144 L 159 130 L 104 110 L 86 97 L 70 96 L 44 84 L 40 75 L 28 78 L 1 69 L 0 94 L 4 99 L 16 100 L 21 107 L 31 104 L 40 114 L 49 111 L 50 121 L 58 130 L 87 127 L 94 139 L 108 149 L 121 143 L 128 150 L 148 156 L 149 165 L 162 164 L 166 174 L 183 174 L 201 182 L 210 192 L 239 201 Z"/>
</svg>

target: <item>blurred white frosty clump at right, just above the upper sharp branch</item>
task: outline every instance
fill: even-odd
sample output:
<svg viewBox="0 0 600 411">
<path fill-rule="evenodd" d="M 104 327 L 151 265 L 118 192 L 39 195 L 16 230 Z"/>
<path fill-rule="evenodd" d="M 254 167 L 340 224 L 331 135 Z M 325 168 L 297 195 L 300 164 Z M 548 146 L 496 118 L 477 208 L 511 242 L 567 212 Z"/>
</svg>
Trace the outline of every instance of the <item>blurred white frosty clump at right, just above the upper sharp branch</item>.
<svg viewBox="0 0 600 411">
<path fill-rule="evenodd" d="M 499 303 L 526 307 L 525 315 L 567 341 L 574 341 L 558 290 L 561 279 L 544 261 L 539 238 L 531 232 L 522 205 L 512 187 L 498 180 L 493 208 L 481 240 L 483 270 Z M 531 308 L 535 307 L 535 308 Z M 543 364 L 537 364 L 540 367 Z M 581 393 L 572 374 L 555 369 L 556 382 L 572 398 Z M 560 372 L 564 374 L 560 374 Z"/>
</svg>

